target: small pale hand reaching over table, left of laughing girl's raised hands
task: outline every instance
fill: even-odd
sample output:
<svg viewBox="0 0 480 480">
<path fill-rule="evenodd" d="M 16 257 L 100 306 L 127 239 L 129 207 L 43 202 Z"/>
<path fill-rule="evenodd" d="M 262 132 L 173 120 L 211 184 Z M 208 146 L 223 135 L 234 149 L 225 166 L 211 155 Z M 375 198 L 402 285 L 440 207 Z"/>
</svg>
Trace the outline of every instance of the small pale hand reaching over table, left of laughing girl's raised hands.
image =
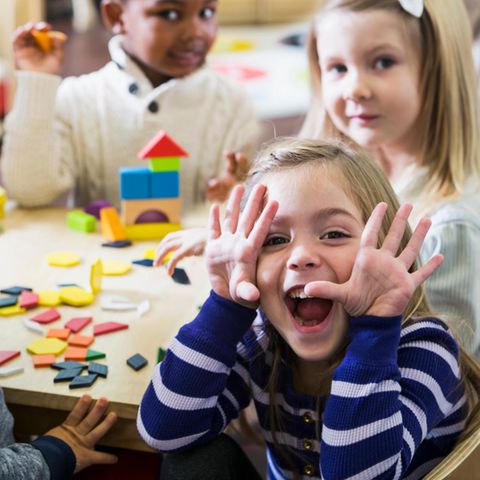
<svg viewBox="0 0 480 480">
<path fill-rule="evenodd" d="M 173 274 L 178 262 L 185 257 L 201 255 L 207 243 L 207 229 L 204 227 L 188 228 L 171 232 L 158 244 L 154 265 L 162 265 L 166 256 L 172 256 L 167 263 L 167 273 Z"/>
</svg>

